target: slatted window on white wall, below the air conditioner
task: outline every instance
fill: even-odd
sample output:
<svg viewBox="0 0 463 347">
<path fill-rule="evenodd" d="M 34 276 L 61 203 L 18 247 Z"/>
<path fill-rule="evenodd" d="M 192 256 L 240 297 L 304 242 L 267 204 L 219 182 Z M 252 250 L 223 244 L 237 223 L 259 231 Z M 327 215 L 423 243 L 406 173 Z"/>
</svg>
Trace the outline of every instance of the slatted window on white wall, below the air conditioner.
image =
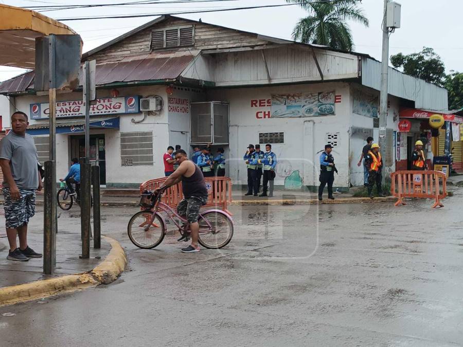
<svg viewBox="0 0 463 347">
<path fill-rule="evenodd" d="M 153 165 L 153 132 L 120 133 L 122 166 Z"/>
</svg>

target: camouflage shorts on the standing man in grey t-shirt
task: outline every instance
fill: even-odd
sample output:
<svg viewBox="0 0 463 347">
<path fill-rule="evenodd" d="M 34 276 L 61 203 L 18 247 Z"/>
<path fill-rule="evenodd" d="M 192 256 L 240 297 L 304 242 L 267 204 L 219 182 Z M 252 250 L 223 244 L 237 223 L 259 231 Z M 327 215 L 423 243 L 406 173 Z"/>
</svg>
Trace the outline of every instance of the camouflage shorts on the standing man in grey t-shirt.
<svg viewBox="0 0 463 347">
<path fill-rule="evenodd" d="M 20 189 L 21 198 L 13 200 L 10 197 L 10 189 L 3 187 L 5 197 L 5 225 L 7 228 L 16 229 L 29 223 L 29 218 L 35 214 L 35 190 Z"/>
</svg>

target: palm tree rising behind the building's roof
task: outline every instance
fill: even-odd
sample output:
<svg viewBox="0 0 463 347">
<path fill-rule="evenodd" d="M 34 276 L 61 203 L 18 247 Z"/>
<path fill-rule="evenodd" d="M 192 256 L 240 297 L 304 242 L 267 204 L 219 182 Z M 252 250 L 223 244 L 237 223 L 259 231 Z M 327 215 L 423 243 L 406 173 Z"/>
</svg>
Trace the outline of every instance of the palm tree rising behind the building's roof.
<svg viewBox="0 0 463 347">
<path fill-rule="evenodd" d="M 347 21 L 354 21 L 368 27 L 368 19 L 356 0 L 286 0 L 299 4 L 309 11 L 309 16 L 297 22 L 293 39 L 303 43 L 314 43 L 334 49 L 351 51 L 352 33 Z"/>
</svg>

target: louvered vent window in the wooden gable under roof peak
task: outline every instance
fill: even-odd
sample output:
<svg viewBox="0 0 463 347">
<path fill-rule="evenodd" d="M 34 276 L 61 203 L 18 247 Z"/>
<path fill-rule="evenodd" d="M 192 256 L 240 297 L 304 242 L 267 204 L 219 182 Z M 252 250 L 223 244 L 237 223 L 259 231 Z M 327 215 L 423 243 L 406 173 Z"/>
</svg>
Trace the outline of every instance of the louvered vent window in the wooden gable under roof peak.
<svg viewBox="0 0 463 347">
<path fill-rule="evenodd" d="M 192 46 L 194 25 L 171 27 L 151 31 L 151 49 Z"/>
</svg>

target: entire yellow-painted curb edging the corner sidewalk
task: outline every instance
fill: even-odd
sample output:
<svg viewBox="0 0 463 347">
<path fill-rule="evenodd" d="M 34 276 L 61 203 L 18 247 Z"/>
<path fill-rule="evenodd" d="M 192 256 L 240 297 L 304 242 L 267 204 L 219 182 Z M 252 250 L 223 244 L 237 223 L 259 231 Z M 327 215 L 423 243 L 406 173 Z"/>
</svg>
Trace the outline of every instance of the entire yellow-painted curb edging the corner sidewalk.
<svg viewBox="0 0 463 347">
<path fill-rule="evenodd" d="M 111 244 L 111 251 L 92 271 L 0 288 L 0 306 L 114 282 L 126 268 L 126 253 L 116 240 L 103 237 Z"/>
</svg>

